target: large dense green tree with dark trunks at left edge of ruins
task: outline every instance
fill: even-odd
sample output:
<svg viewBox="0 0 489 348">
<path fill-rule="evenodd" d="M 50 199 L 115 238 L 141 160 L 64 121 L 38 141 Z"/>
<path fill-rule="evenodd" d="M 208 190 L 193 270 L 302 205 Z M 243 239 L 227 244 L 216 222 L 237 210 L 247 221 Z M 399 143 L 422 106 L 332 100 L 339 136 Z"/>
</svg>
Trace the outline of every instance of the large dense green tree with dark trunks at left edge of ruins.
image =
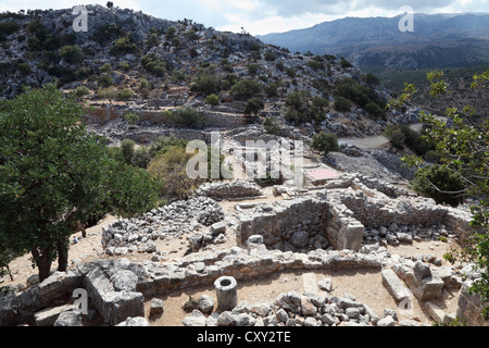
<svg viewBox="0 0 489 348">
<path fill-rule="evenodd" d="M 158 182 L 110 159 L 83 114 L 54 84 L 0 109 L 0 244 L 14 254 L 30 252 L 40 281 L 57 258 L 66 270 L 68 237 L 79 223 L 140 213 L 158 198 Z"/>
</svg>

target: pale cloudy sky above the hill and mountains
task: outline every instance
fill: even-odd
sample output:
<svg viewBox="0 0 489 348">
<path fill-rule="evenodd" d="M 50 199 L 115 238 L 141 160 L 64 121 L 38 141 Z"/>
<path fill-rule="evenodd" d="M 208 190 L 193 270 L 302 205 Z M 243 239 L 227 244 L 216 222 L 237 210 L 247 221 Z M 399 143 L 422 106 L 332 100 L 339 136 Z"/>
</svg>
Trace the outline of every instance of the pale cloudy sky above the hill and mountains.
<svg viewBox="0 0 489 348">
<path fill-rule="evenodd" d="M 421 13 L 489 12 L 489 0 L 112 0 L 166 20 L 191 18 L 206 27 L 252 35 L 281 33 L 347 16 L 394 16 L 410 5 Z M 105 5 L 106 0 L 86 3 Z M 80 0 L 0 0 L 0 12 L 21 9 L 67 9 Z"/>
</svg>

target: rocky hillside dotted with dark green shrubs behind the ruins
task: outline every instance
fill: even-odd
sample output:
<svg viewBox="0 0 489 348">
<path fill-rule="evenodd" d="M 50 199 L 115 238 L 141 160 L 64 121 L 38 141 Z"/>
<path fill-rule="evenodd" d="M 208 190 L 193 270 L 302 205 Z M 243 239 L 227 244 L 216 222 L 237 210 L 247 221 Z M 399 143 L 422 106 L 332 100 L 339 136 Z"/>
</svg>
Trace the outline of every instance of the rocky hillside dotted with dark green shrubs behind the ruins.
<svg viewBox="0 0 489 348">
<path fill-rule="evenodd" d="M 290 53 L 191 20 L 171 22 L 128 9 L 87 8 L 87 33 L 73 32 L 71 9 L 1 14 L 0 25 L 9 28 L 0 52 L 2 98 L 13 98 L 23 86 L 58 79 L 66 92 L 122 114 L 189 103 L 200 111 L 242 116 L 246 102 L 260 97 L 265 108 L 259 115 L 304 125 L 308 136 L 316 130 L 378 134 L 389 117 L 380 110 L 389 95 L 367 85 L 360 70 L 335 55 Z M 354 100 L 347 109 L 335 109 L 337 87 L 346 83 L 362 86 L 366 100 L 378 107 L 374 113 Z M 212 94 L 218 98 L 214 107 L 204 103 Z"/>
</svg>

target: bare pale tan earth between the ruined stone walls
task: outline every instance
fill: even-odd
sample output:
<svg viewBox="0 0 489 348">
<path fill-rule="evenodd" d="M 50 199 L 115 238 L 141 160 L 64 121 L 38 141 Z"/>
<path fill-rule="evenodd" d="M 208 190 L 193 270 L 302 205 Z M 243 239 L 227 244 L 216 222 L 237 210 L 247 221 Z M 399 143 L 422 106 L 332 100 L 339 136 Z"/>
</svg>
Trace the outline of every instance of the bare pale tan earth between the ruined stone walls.
<svg viewBox="0 0 489 348">
<path fill-rule="evenodd" d="M 269 190 L 266 191 L 267 198 L 258 199 L 253 201 L 271 201 L 279 200 L 281 198 L 274 197 Z M 223 201 L 221 202 L 227 216 L 231 217 L 234 207 L 239 202 Z M 102 227 L 116 221 L 115 216 L 104 217 L 98 225 L 87 229 L 87 237 L 79 240 L 77 244 L 72 244 L 70 248 L 70 262 L 74 266 L 76 262 L 87 262 L 96 259 L 109 259 L 110 257 L 103 252 L 101 240 Z M 80 233 L 72 236 L 80 237 Z M 187 247 L 187 235 L 172 238 L 170 240 L 156 240 L 158 250 L 161 250 L 165 256 L 165 261 L 177 261 L 181 258 Z M 233 231 L 226 233 L 226 243 L 222 245 L 213 245 L 210 248 L 214 250 L 229 249 L 236 246 L 236 240 Z M 389 246 L 388 250 L 391 254 L 399 254 L 403 257 L 434 253 L 438 258 L 449 250 L 450 243 L 441 241 L 423 241 L 413 245 L 400 245 L 397 247 Z M 209 248 L 209 247 L 208 247 Z M 149 260 L 151 256 L 135 253 L 128 254 L 127 258 L 131 261 Z M 443 260 L 443 264 L 447 262 Z M 33 269 L 29 256 L 24 256 L 10 263 L 10 269 L 14 276 L 14 282 L 5 282 L 3 285 L 26 284 L 29 276 L 37 274 L 37 270 Z M 55 264 L 53 264 L 55 269 Z M 305 276 L 304 276 L 305 274 Z M 333 279 L 333 291 L 328 296 L 344 296 L 346 293 L 354 296 L 356 301 L 365 303 L 373 308 L 378 315 L 383 315 L 384 309 L 393 309 L 398 311 L 399 320 L 412 319 L 424 324 L 431 324 L 429 315 L 422 307 L 414 301 L 412 311 L 401 311 L 398 304 L 389 295 L 387 289 L 381 284 L 380 272 L 367 270 L 328 270 L 328 271 L 310 271 L 300 270 L 296 272 L 277 272 L 274 275 L 267 275 L 256 278 L 250 278 L 238 282 L 238 300 L 248 301 L 250 303 L 272 303 L 274 299 L 280 294 L 289 290 L 296 290 L 298 294 L 305 291 L 304 284 L 317 284 L 323 278 L 330 277 Z M 313 282 L 311 282 L 311 279 Z M 308 283 L 309 282 L 309 283 Z M 152 326 L 177 326 L 181 325 L 183 319 L 188 315 L 181 307 L 187 301 L 189 296 L 199 298 L 201 295 L 209 295 L 215 298 L 215 290 L 212 285 L 200 286 L 185 289 L 184 291 L 173 291 L 159 296 L 164 301 L 164 313 L 158 318 L 147 318 Z M 327 295 L 325 291 L 318 290 L 318 294 Z M 456 300 L 459 294 L 453 294 L 453 298 L 439 301 L 439 304 L 448 312 L 456 311 Z M 146 301 L 146 313 L 149 313 L 149 300 Z"/>
</svg>

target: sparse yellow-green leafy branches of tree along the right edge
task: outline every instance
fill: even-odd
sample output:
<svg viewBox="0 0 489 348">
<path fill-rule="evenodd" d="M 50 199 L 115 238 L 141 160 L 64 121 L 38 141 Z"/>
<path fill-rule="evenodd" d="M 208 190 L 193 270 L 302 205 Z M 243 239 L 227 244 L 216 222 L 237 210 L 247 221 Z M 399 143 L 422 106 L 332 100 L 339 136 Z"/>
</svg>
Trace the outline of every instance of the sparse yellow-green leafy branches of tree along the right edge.
<svg viewBox="0 0 489 348">
<path fill-rule="evenodd" d="M 452 251 L 446 258 L 451 262 L 461 259 L 476 264 L 481 278 L 474 282 L 469 293 L 480 295 L 482 303 L 489 303 L 489 119 L 478 117 L 481 115 L 478 111 L 479 103 L 484 96 L 487 96 L 489 88 L 489 71 L 473 76 L 471 88 L 477 98 L 465 105 L 453 97 L 442 72 L 429 72 L 427 79 L 430 84 L 430 97 L 444 97 L 448 107 L 444 117 L 421 112 L 419 121 L 426 127 L 424 137 L 435 145 L 442 165 L 460 175 L 465 188 L 446 191 L 435 183 L 431 183 L 431 186 L 439 192 L 471 196 L 477 200 L 477 204 L 472 206 L 473 233 L 467 241 L 468 247 L 461 253 Z M 405 84 L 402 94 L 392 100 L 389 107 L 403 108 L 414 104 L 416 92 L 413 84 Z M 405 157 L 404 161 L 418 171 L 424 165 L 423 159 L 416 156 Z M 489 307 L 485 308 L 482 314 L 489 320 Z"/>
</svg>

